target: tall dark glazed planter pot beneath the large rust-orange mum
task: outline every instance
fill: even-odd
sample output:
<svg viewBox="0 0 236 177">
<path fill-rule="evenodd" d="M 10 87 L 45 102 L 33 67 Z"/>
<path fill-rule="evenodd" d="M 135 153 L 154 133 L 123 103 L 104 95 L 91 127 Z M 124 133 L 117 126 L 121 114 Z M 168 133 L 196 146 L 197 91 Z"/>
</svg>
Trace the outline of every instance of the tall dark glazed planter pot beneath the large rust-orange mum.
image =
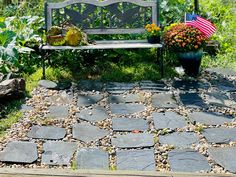
<svg viewBox="0 0 236 177">
<path fill-rule="evenodd" d="M 194 52 L 181 52 L 177 54 L 180 64 L 184 68 L 185 74 L 191 77 L 197 77 L 200 70 L 203 50 Z"/>
</svg>

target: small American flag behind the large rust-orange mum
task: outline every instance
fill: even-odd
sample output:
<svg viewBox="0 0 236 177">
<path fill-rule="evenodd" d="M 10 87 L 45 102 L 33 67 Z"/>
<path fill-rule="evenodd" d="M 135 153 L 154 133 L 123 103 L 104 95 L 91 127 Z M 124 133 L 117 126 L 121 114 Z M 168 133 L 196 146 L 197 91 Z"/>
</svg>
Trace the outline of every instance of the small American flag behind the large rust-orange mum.
<svg viewBox="0 0 236 177">
<path fill-rule="evenodd" d="M 196 14 L 186 13 L 185 24 L 199 29 L 207 38 L 216 32 L 216 27 L 211 22 Z"/>
</svg>

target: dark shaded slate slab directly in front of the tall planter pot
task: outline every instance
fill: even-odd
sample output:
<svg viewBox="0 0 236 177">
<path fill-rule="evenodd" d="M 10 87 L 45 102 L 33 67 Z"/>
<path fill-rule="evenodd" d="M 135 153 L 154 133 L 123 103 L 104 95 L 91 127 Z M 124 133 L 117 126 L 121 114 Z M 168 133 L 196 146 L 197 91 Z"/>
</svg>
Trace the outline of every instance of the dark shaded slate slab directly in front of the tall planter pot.
<svg viewBox="0 0 236 177">
<path fill-rule="evenodd" d="M 173 87 L 175 89 L 189 91 L 189 90 L 208 89 L 209 84 L 192 80 L 175 80 L 173 82 Z"/>
</svg>

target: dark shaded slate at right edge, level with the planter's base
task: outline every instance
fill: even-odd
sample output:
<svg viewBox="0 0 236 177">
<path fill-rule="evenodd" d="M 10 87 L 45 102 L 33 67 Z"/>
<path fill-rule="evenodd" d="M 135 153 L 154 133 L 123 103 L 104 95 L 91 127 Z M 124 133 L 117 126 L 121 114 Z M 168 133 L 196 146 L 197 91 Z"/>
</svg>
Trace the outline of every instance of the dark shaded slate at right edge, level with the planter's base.
<svg viewBox="0 0 236 177">
<path fill-rule="evenodd" d="M 210 81 L 213 87 L 224 91 L 224 92 L 235 92 L 236 91 L 236 84 L 232 81 L 229 81 L 225 78 L 213 79 Z"/>
</svg>

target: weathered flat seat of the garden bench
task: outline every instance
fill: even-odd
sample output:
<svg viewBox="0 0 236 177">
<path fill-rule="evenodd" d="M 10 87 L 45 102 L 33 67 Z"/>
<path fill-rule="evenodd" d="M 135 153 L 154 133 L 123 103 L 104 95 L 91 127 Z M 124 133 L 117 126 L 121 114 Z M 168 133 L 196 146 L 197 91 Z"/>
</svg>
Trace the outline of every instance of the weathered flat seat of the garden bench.
<svg viewBox="0 0 236 177">
<path fill-rule="evenodd" d="M 93 50 L 93 49 L 135 49 L 135 48 L 161 48 L 162 44 L 150 44 L 147 40 L 104 40 L 95 41 L 95 44 L 87 46 L 51 46 L 45 45 L 43 50 Z"/>
</svg>

